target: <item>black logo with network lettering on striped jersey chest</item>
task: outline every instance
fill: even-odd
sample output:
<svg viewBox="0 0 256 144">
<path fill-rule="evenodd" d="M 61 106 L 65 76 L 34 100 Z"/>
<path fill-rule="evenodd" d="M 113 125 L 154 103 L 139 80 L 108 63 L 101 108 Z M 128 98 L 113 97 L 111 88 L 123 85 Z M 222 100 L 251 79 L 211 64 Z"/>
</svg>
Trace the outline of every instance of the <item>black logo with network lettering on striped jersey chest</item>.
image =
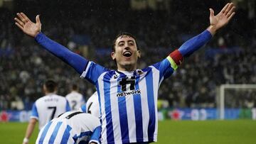
<svg viewBox="0 0 256 144">
<path fill-rule="evenodd" d="M 134 76 L 120 79 L 118 85 L 121 87 L 122 92 L 117 93 L 117 97 L 141 94 L 139 89 L 135 89 L 135 82 L 136 79 Z"/>
</svg>

